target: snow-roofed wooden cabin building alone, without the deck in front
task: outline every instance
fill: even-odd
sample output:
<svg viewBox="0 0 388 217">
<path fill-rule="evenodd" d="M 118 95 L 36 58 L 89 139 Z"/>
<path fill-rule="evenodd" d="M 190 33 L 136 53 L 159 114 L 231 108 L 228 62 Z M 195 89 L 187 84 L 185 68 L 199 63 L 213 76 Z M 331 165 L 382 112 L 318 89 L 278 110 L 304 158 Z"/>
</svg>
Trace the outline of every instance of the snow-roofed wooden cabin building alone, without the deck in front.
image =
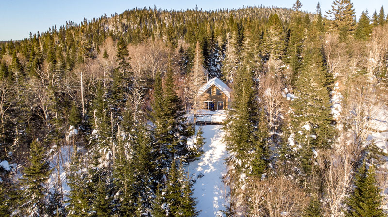
<svg viewBox="0 0 388 217">
<path fill-rule="evenodd" d="M 210 110 L 211 102 L 214 110 L 225 110 L 230 106 L 230 88 L 218 78 L 213 78 L 198 90 L 199 108 Z"/>
</svg>

